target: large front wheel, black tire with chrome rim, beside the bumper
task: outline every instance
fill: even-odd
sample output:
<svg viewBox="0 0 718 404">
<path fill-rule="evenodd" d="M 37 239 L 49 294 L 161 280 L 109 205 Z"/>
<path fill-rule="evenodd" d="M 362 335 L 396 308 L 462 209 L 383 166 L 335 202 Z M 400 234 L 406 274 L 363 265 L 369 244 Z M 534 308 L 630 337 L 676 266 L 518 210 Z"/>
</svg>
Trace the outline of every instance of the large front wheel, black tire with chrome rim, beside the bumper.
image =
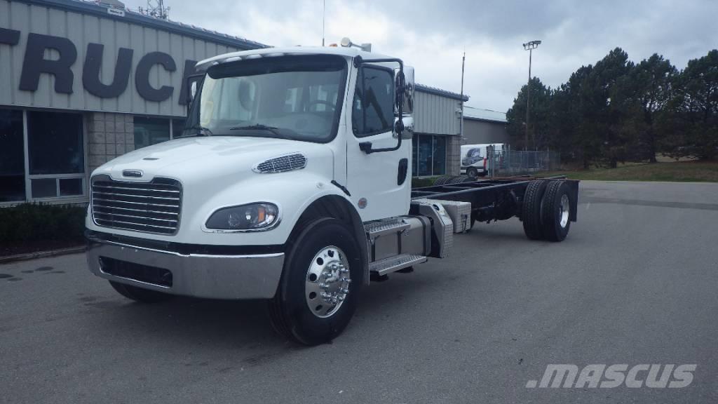
<svg viewBox="0 0 718 404">
<path fill-rule="evenodd" d="M 332 264 L 348 266 L 349 271 L 341 275 L 340 270 L 331 270 Z M 329 272 L 332 272 L 329 279 L 335 280 L 322 292 L 319 286 L 325 279 L 322 275 Z M 349 275 L 350 283 L 342 280 L 346 275 Z M 358 242 L 348 226 L 329 218 L 312 222 L 289 247 L 279 288 L 269 301 L 274 329 L 299 344 L 314 346 L 332 341 L 344 331 L 354 315 L 363 276 Z M 342 289 L 348 292 L 337 291 Z M 337 301 L 331 303 L 321 293 L 336 293 Z M 340 295 L 343 295 L 342 299 L 339 299 Z"/>
</svg>

